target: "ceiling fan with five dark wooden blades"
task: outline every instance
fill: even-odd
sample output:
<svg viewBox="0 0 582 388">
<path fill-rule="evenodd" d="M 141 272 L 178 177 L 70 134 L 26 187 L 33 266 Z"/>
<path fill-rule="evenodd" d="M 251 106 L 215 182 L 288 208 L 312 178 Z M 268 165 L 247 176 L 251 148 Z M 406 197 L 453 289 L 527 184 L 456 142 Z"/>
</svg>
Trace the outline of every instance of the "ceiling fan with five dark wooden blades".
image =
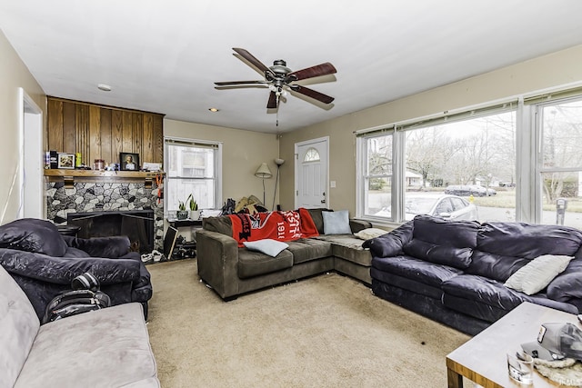
<svg viewBox="0 0 582 388">
<path fill-rule="evenodd" d="M 296 70 L 294 72 L 286 66 L 286 62 L 283 59 L 277 59 L 273 62 L 272 66 L 267 67 L 244 48 L 234 47 L 233 50 L 236 51 L 236 54 L 245 58 L 246 61 L 248 61 L 251 65 L 254 65 L 256 69 L 260 70 L 265 75 L 265 80 L 216 82 L 215 85 L 242 87 L 266 85 L 271 90 L 268 102 L 266 103 L 267 109 L 276 109 L 279 106 L 279 98 L 286 95 L 286 90 L 292 90 L 301 95 L 306 95 L 307 97 L 316 99 L 317 101 L 320 101 L 324 104 L 331 104 L 331 102 L 334 101 L 334 97 L 316 92 L 315 90 L 303 85 L 293 84 L 296 81 L 307 78 L 314 78 L 321 75 L 333 75 L 337 72 L 337 70 L 336 67 L 331 65 L 329 62 L 321 65 L 306 67 L 305 69 Z"/>
</svg>

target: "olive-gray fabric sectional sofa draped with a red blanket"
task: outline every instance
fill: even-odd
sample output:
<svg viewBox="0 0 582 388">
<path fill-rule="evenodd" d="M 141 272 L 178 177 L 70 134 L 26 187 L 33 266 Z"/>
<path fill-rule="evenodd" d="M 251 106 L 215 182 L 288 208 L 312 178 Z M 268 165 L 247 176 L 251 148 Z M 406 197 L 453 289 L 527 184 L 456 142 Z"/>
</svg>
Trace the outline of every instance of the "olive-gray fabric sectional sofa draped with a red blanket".
<svg viewBox="0 0 582 388">
<path fill-rule="evenodd" d="M 308 209 L 319 235 L 287 241 L 276 257 L 239 247 L 228 216 L 205 218 L 196 232 L 198 275 L 225 300 L 327 271 L 371 284 L 372 256 L 353 233 L 372 225 L 350 219 L 350 233 L 325 234 L 322 211 L 328 210 Z"/>
</svg>

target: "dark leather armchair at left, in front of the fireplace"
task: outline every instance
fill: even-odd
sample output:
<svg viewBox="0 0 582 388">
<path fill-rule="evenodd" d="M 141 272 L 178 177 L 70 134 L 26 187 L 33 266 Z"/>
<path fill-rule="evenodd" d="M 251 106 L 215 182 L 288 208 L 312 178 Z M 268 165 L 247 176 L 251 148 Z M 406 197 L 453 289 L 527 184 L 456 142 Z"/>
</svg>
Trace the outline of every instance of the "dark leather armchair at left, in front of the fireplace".
<svg viewBox="0 0 582 388">
<path fill-rule="evenodd" d="M 111 304 L 139 302 L 147 318 L 152 297 L 150 274 L 126 236 L 76 238 L 55 224 L 24 218 L 0 226 L 0 264 L 23 289 L 39 319 L 46 305 L 71 289 L 71 281 L 90 272 Z"/>
</svg>

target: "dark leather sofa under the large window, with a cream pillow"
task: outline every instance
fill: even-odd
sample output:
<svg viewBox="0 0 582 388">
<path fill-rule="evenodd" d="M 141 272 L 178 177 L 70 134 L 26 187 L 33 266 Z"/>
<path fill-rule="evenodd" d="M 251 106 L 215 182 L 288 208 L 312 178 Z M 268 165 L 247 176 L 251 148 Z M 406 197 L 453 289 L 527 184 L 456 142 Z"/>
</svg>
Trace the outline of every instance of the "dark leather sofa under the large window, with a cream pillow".
<svg viewBox="0 0 582 388">
<path fill-rule="evenodd" d="M 418 215 L 364 246 L 373 255 L 373 293 L 464 333 L 479 333 L 523 302 L 582 311 L 582 232 L 575 228 Z M 537 293 L 504 285 L 547 254 L 574 259 Z"/>
</svg>

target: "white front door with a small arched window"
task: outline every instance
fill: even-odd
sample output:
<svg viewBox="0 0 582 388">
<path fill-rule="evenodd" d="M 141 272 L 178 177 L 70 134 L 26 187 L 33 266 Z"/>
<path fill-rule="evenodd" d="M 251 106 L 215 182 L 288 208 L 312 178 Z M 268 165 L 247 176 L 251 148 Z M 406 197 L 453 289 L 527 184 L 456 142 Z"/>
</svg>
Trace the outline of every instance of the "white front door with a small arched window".
<svg viewBox="0 0 582 388">
<path fill-rule="evenodd" d="M 297 143 L 296 208 L 327 208 L 327 154 L 329 138 Z"/>
</svg>

